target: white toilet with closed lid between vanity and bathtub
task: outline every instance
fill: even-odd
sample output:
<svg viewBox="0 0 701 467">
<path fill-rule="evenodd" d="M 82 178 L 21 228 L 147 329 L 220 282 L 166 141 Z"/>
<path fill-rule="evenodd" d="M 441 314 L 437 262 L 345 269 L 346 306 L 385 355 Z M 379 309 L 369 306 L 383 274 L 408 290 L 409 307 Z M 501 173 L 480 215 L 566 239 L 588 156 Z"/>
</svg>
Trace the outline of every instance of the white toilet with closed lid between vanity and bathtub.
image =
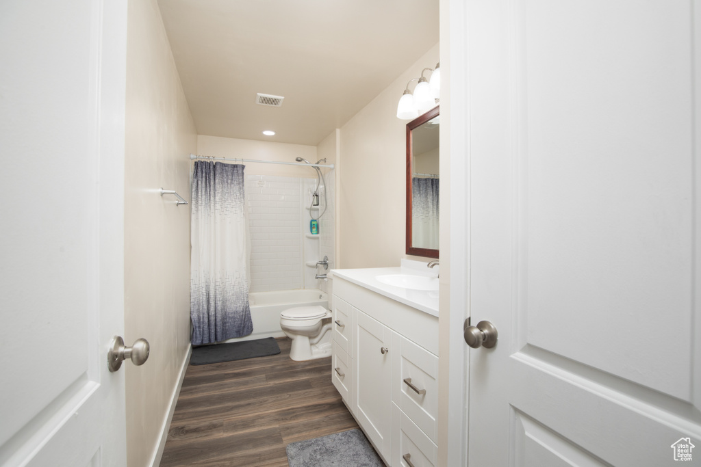
<svg viewBox="0 0 701 467">
<path fill-rule="evenodd" d="M 280 312 L 280 328 L 292 339 L 294 361 L 331 356 L 331 312 L 320 305 L 294 307 Z"/>
</svg>

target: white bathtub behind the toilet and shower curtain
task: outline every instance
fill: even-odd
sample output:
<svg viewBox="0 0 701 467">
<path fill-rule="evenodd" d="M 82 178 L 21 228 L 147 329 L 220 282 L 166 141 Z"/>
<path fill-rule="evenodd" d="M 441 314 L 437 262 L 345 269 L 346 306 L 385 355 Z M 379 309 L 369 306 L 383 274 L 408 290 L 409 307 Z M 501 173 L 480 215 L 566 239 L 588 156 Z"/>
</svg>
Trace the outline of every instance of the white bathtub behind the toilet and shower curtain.
<svg viewBox="0 0 701 467">
<path fill-rule="evenodd" d="M 318 288 L 298 288 L 291 291 L 252 292 L 248 294 L 251 306 L 253 332 L 244 337 L 236 337 L 224 342 L 262 339 L 264 337 L 285 337 L 280 329 L 280 312 L 292 307 L 321 305 L 329 308 L 329 299 Z"/>
</svg>

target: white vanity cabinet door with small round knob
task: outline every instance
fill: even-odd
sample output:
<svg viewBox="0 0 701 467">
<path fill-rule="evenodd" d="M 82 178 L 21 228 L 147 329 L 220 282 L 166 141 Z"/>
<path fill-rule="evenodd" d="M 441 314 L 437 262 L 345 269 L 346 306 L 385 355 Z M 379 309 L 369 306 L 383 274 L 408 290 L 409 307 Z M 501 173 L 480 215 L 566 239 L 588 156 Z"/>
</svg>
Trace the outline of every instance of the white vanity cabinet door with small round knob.
<svg viewBox="0 0 701 467">
<path fill-rule="evenodd" d="M 354 412 L 365 434 L 384 459 L 390 454 L 392 427 L 390 349 L 392 331 L 357 311 L 355 320 Z"/>
</svg>

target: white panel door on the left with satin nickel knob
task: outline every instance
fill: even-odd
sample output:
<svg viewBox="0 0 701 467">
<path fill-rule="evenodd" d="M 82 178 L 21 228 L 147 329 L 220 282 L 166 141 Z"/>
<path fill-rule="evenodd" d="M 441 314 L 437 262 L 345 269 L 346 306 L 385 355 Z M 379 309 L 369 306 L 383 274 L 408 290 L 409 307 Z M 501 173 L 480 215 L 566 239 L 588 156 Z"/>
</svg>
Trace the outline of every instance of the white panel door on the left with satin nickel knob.
<svg viewBox="0 0 701 467">
<path fill-rule="evenodd" d="M 125 50 L 125 0 L 0 2 L 2 466 L 126 463 Z"/>
</svg>

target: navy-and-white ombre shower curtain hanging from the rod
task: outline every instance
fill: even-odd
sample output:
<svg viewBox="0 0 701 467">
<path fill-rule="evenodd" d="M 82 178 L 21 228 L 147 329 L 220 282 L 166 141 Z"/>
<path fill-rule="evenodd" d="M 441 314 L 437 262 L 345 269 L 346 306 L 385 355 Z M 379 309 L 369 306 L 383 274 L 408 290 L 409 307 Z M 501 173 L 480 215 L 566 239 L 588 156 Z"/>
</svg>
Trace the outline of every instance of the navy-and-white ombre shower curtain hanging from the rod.
<svg viewBox="0 0 701 467">
<path fill-rule="evenodd" d="M 195 162 L 190 265 L 193 344 L 221 342 L 253 331 L 244 167 Z"/>
</svg>

